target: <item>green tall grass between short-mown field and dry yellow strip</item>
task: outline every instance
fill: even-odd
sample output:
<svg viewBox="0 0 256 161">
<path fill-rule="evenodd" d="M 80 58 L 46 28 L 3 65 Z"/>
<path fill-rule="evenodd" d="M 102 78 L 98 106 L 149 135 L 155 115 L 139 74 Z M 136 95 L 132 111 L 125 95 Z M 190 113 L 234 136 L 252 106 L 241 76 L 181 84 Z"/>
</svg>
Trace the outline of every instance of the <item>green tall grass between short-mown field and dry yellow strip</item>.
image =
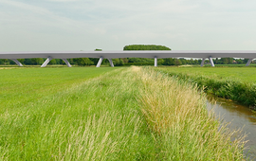
<svg viewBox="0 0 256 161">
<path fill-rule="evenodd" d="M 0 116 L 0 158 L 154 159 L 153 137 L 138 113 L 136 82 L 129 76 L 118 69 L 6 110 Z"/>
</svg>

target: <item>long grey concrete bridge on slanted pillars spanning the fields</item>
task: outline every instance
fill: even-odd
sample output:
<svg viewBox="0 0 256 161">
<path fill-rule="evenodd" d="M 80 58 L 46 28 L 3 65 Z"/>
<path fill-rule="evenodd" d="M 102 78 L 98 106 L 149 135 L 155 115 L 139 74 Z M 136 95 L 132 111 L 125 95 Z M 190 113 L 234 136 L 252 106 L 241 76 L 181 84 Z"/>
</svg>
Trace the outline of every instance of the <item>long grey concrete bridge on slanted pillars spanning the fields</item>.
<svg viewBox="0 0 256 161">
<path fill-rule="evenodd" d="M 214 66 L 212 58 L 245 58 L 248 59 L 247 66 L 256 58 L 256 50 L 125 50 L 125 51 L 28 51 L 28 52 L 0 52 L 0 59 L 12 60 L 19 66 L 23 66 L 17 59 L 46 58 L 46 65 L 52 59 L 62 59 L 71 67 L 67 59 L 71 58 L 99 58 L 96 67 L 100 67 L 103 59 L 108 59 L 114 67 L 112 59 L 115 58 L 153 58 L 155 66 L 157 59 L 162 58 L 196 58 L 202 59 L 201 66 L 209 59 L 210 65 Z"/>
</svg>

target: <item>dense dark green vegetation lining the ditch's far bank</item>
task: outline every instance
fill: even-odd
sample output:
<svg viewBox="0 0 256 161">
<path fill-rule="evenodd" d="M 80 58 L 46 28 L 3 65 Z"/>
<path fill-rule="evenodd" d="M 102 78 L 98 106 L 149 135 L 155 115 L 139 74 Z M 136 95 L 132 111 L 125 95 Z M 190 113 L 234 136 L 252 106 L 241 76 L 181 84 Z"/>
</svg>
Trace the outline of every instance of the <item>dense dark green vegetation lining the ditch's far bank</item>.
<svg viewBox="0 0 256 161">
<path fill-rule="evenodd" d="M 256 85 L 254 83 L 233 80 L 231 78 L 217 79 L 204 75 L 198 76 L 186 73 L 162 72 L 174 76 L 177 79 L 195 83 L 208 94 L 213 94 L 220 98 L 236 100 L 250 106 L 250 108 L 256 109 Z"/>
</svg>

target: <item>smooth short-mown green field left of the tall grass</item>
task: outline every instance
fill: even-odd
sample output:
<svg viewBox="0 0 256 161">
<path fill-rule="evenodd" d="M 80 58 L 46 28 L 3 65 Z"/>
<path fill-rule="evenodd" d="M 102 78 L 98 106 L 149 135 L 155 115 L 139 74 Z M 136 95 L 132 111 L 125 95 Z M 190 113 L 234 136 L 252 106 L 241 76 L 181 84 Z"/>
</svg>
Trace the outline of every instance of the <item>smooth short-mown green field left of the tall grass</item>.
<svg viewBox="0 0 256 161">
<path fill-rule="evenodd" d="M 39 98 L 64 91 L 76 83 L 92 79 L 117 68 L 60 67 L 11 68 L 0 70 L 0 112 L 27 106 Z"/>
</svg>

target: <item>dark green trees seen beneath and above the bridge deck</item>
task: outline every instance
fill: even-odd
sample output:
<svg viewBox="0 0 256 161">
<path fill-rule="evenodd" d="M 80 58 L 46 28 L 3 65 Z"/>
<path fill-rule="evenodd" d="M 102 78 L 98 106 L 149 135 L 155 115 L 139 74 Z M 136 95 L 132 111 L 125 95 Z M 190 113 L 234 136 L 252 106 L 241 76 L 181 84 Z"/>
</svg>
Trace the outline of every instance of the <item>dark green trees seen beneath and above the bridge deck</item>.
<svg viewBox="0 0 256 161">
<path fill-rule="evenodd" d="M 172 50 L 171 48 L 164 45 L 125 45 L 123 50 Z M 95 49 L 95 51 L 101 51 L 101 49 Z M 74 58 L 67 59 L 68 62 L 72 65 L 96 65 L 99 61 L 98 58 Z M 18 59 L 20 63 L 25 65 L 41 65 L 46 61 L 44 58 L 32 58 L 32 59 Z M 150 58 L 119 58 L 112 59 L 115 66 L 121 65 L 152 65 L 155 60 Z M 158 65 L 182 65 L 182 64 L 200 64 L 202 60 L 197 59 L 184 59 L 184 58 L 166 58 L 166 59 L 157 59 Z M 205 63 L 210 63 L 209 60 L 206 60 Z M 221 58 L 213 59 L 215 64 L 245 64 L 247 59 L 233 59 L 233 58 Z M 253 62 L 252 62 L 253 63 Z M 0 64 L 8 65 L 15 64 L 9 59 L 0 59 Z M 65 64 L 61 59 L 53 59 L 48 64 Z M 102 64 L 109 64 L 108 60 L 104 59 Z"/>
</svg>

